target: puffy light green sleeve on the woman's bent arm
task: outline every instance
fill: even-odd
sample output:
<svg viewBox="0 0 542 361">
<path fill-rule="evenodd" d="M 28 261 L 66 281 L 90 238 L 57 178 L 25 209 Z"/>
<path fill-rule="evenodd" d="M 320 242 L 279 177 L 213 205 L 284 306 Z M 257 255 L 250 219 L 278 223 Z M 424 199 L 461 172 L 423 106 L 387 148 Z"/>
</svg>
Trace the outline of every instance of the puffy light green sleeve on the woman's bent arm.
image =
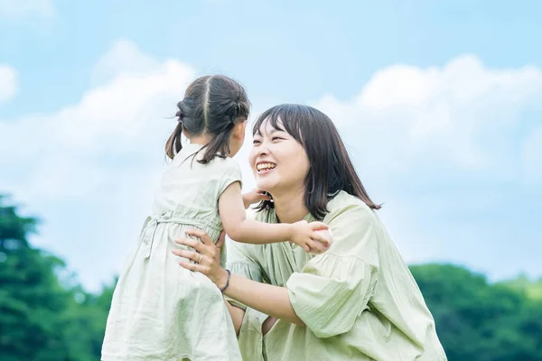
<svg viewBox="0 0 542 361">
<path fill-rule="evenodd" d="M 286 282 L 295 313 L 318 338 L 352 328 L 368 308 L 378 273 L 378 227 L 372 210 L 350 204 L 326 218 L 332 246 Z"/>
</svg>

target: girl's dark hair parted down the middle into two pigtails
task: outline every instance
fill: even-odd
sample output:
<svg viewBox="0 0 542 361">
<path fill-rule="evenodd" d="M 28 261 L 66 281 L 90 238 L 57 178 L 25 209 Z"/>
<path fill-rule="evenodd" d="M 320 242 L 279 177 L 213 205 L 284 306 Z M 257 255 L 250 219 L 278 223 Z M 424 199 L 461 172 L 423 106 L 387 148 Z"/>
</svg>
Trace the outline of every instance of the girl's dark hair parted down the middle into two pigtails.
<svg viewBox="0 0 542 361">
<path fill-rule="evenodd" d="M 228 156 L 231 130 L 236 123 L 247 120 L 250 111 L 245 88 L 223 75 L 195 79 L 177 107 L 179 111 L 175 116 L 179 124 L 165 143 L 165 153 L 173 159 L 181 151 L 182 130 L 191 136 L 210 134 L 213 138 L 205 145 L 203 158 L 198 161 L 202 164 L 216 156 Z"/>
</svg>

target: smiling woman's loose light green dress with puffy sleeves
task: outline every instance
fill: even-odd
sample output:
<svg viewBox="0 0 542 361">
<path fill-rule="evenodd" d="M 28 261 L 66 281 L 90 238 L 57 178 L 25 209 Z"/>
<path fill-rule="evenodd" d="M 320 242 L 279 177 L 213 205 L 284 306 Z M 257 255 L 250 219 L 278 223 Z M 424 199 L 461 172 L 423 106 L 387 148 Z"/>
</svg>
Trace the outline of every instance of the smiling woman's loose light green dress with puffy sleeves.
<svg viewBox="0 0 542 361">
<path fill-rule="evenodd" d="M 232 301 L 246 309 L 238 337 L 243 359 L 446 360 L 435 321 L 375 212 L 345 192 L 328 209 L 323 222 L 332 229 L 333 244 L 322 255 L 308 255 L 289 243 L 229 242 L 231 272 L 286 287 L 306 324 L 279 319 L 262 337 L 267 316 Z M 256 218 L 277 222 L 272 210 Z"/>
</svg>

